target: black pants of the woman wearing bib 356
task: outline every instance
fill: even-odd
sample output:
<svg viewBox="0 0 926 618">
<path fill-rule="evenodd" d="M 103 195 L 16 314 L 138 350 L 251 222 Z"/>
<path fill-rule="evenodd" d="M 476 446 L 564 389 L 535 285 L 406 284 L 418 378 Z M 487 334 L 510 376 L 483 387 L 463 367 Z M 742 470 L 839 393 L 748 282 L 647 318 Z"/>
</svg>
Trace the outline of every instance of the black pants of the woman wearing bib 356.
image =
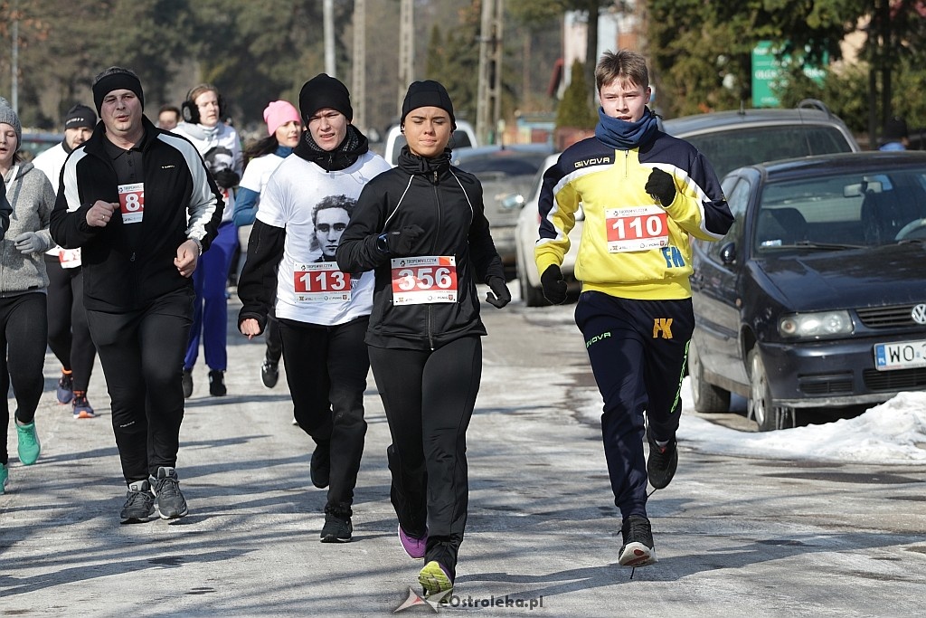
<svg viewBox="0 0 926 618">
<path fill-rule="evenodd" d="M 403 530 L 428 531 L 425 561 L 457 570 L 469 505 L 466 431 L 482 380 L 482 339 L 435 350 L 369 348 L 393 444 L 391 498 Z"/>
</svg>

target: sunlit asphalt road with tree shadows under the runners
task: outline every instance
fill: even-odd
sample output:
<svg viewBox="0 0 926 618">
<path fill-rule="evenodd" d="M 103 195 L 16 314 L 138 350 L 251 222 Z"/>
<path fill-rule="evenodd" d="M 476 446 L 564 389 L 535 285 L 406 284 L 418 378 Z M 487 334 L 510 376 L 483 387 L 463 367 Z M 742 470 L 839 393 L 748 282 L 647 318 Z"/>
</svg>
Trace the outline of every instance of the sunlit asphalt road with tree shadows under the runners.
<svg viewBox="0 0 926 618">
<path fill-rule="evenodd" d="M 922 615 L 924 466 L 745 459 L 682 444 L 679 473 L 649 503 L 658 563 L 619 567 L 600 429 L 577 412 L 595 390 L 571 309 L 483 307 L 469 523 L 457 596 L 440 612 Z M 232 331 L 230 343 L 227 397 L 209 397 L 206 368 L 194 371 L 178 463 L 190 514 L 172 524 L 119 525 L 125 486 L 102 372 L 90 391 L 100 417 L 75 421 L 56 403 L 48 357 L 34 466 L 19 465 L 7 432 L 0 615 L 384 616 L 418 589 L 419 562 L 395 538 L 372 379 L 354 541 L 321 544 L 324 492 L 309 482 L 310 440 L 290 423 L 285 380 L 260 384 L 262 341 Z"/>
</svg>

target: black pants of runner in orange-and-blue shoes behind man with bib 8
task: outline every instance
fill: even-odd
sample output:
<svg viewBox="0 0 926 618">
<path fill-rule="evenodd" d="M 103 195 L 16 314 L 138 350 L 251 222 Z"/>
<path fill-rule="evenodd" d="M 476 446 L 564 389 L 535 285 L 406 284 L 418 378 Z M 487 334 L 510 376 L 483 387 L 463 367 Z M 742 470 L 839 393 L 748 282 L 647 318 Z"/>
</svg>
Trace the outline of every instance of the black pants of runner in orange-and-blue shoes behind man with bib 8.
<svg viewBox="0 0 926 618">
<path fill-rule="evenodd" d="M 83 269 L 61 268 L 56 256 L 45 254 L 48 272 L 48 347 L 61 367 L 73 372 L 74 390 L 87 392 L 94 371 L 96 348 L 83 309 Z"/>
</svg>

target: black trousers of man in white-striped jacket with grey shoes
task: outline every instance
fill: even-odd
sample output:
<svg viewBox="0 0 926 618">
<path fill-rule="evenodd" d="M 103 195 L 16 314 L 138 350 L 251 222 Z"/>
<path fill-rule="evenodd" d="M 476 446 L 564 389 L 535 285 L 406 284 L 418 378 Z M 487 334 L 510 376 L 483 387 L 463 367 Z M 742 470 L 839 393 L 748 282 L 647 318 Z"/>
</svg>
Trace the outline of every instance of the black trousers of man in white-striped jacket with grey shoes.
<svg viewBox="0 0 926 618">
<path fill-rule="evenodd" d="M 87 310 L 127 484 L 177 465 L 193 298 L 192 290 L 181 290 L 135 311 Z"/>
</svg>

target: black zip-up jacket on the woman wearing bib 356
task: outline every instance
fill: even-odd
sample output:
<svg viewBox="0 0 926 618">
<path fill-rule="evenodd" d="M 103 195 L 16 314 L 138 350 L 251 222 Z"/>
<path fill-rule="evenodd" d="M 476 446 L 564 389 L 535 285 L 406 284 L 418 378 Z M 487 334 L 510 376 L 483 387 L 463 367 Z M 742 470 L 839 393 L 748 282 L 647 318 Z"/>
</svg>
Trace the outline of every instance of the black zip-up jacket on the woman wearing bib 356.
<svg viewBox="0 0 926 618">
<path fill-rule="evenodd" d="M 409 256 L 455 256 L 455 303 L 394 305 L 390 259 L 377 238 L 408 225 L 424 230 Z M 375 271 L 373 310 L 366 341 L 373 347 L 435 349 L 463 336 L 486 334 L 477 283 L 505 279 L 482 204 L 482 184 L 437 158 L 412 155 L 407 146 L 398 167 L 371 180 L 335 254 L 342 271 Z"/>
</svg>

